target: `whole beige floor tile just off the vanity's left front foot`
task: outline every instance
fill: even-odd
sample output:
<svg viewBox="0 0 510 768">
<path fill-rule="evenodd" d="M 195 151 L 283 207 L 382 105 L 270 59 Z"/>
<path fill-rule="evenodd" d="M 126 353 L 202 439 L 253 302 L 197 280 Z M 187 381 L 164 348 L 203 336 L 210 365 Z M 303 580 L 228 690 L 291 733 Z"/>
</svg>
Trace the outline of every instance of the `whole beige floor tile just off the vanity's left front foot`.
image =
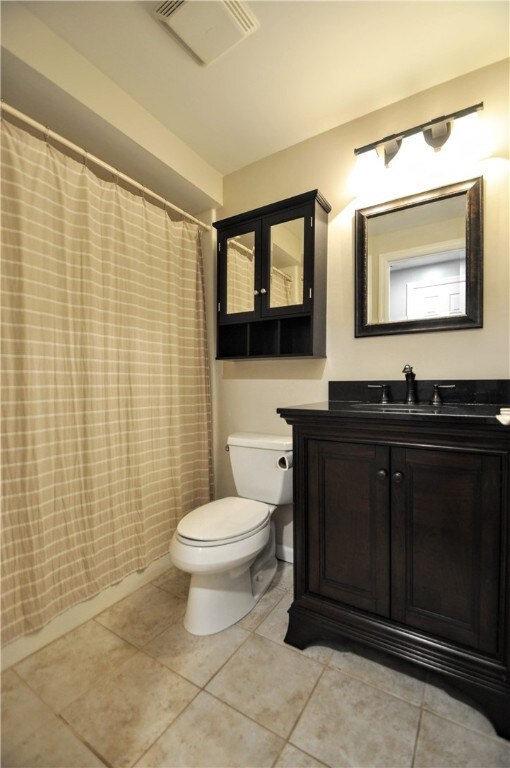
<svg viewBox="0 0 510 768">
<path fill-rule="evenodd" d="M 323 669 L 312 659 L 252 635 L 207 690 L 286 737 Z"/>
</svg>

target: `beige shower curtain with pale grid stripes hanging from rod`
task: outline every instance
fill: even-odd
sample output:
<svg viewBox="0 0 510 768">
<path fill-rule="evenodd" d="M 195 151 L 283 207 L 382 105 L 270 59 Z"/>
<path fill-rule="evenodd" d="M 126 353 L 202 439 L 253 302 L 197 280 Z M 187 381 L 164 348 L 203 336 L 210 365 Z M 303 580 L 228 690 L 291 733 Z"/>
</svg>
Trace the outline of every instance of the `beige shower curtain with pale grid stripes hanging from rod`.
<svg viewBox="0 0 510 768">
<path fill-rule="evenodd" d="M 2 640 L 211 498 L 199 231 L 2 121 Z"/>
</svg>

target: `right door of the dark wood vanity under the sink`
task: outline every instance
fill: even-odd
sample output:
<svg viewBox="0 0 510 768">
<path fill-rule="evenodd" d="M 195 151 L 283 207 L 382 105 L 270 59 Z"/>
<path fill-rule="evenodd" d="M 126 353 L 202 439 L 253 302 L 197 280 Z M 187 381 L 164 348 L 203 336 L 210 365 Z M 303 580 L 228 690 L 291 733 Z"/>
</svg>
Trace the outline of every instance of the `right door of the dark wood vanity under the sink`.
<svg viewBox="0 0 510 768">
<path fill-rule="evenodd" d="M 496 651 L 500 471 L 497 456 L 394 450 L 392 618 Z"/>
</svg>

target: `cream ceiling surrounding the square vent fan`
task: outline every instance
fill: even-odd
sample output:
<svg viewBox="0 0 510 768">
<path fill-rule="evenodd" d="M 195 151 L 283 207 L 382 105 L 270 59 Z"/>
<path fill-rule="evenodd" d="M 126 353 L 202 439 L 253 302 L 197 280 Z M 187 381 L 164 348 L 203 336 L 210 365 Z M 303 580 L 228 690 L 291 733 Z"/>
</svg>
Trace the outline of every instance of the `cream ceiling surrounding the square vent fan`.
<svg viewBox="0 0 510 768">
<path fill-rule="evenodd" d="M 222 175 L 509 55 L 507 0 L 249 0 L 260 28 L 208 66 L 157 0 L 20 5 Z"/>
</svg>

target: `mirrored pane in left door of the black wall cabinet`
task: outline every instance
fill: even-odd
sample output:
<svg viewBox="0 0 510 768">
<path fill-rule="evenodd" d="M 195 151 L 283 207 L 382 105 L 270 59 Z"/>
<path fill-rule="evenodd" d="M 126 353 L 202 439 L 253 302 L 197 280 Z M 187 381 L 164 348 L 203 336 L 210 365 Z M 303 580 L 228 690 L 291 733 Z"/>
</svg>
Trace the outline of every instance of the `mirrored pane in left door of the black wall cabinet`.
<svg viewBox="0 0 510 768">
<path fill-rule="evenodd" d="M 255 308 L 255 232 L 227 239 L 227 314 Z"/>
</svg>

